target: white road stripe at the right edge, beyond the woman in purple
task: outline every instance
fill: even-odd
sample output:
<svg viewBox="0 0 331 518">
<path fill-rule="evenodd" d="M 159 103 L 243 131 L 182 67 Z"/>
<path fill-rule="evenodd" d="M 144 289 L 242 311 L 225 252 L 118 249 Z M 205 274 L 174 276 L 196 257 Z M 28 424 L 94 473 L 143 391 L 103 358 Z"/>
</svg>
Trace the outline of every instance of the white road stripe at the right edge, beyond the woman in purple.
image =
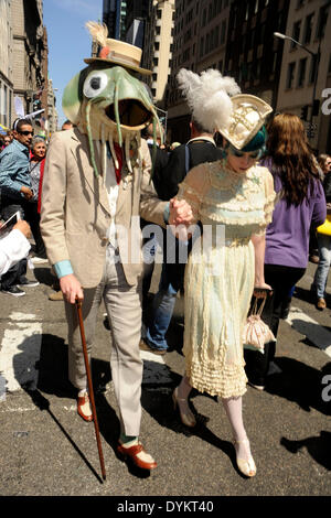
<svg viewBox="0 0 331 518">
<path fill-rule="evenodd" d="M 317 347 L 331 357 L 331 333 L 299 307 L 291 307 L 286 319 L 296 331 L 305 335 Z"/>
</svg>

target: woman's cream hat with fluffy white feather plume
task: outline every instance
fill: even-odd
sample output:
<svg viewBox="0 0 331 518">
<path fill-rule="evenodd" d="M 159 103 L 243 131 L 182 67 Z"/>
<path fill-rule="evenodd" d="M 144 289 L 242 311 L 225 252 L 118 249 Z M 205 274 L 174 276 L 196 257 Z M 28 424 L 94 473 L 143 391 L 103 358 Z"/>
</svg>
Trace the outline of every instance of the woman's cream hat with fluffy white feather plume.
<svg viewBox="0 0 331 518">
<path fill-rule="evenodd" d="M 216 69 L 199 75 L 181 68 L 177 78 L 193 119 L 211 133 L 220 131 L 236 149 L 255 137 L 273 111 L 258 97 L 241 94 L 236 82 Z"/>
</svg>

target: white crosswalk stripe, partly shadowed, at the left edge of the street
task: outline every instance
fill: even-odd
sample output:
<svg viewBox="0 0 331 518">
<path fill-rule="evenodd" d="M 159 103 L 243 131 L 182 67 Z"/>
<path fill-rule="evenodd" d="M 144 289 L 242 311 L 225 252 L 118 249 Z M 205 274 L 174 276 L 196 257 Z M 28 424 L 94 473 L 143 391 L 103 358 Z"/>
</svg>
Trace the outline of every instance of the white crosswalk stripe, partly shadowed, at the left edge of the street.
<svg viewBox="0 0 331 518">
<path fill-rule="evenodd" d="M 6 390 L 13 392 L 22 386 L 34 390 L 39 375 L 36 363 L 40 359 L 42 324 L 34 321 L 33 314 L 14 312 L 9 319 L 0 348 L 0 374 L 2 380 L 6 379 Z M 3 393 L 0 397 L 3 400 Z"/>
</svg>

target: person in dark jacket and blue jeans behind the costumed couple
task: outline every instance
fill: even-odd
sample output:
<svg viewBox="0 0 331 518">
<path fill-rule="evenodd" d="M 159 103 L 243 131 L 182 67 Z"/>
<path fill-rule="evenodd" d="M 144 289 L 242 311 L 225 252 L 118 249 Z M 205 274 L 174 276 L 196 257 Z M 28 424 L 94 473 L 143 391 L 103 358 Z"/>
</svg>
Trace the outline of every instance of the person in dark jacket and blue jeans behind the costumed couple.
<svg viewBox="0 0 331 518">
<path fill-rule="evenodd" d="M 210 132 L 204 130 L 194 120 L 190 122 L 190 128 L 191 139 L 189 142 L 175 148 L 170 154 L 168 164 L 162 169 L 158 185 L 158 194 L 162 199 L 171 199 L 177 195 L 179 184 L 183 181 L 190 169 L 204 162 L 221 160 L 223 157 L 222 150 L 216 148 L 213 136 Z M 167 233 L 171 233 L 171 229 L 169 228 L 163 233 L 163 265 L 159 291 L 153 299 L 152 314 L 146 330 L 146 335 L 140 342 L 142 350 L 149 350 L 157 355 L 164 355 L 167 353 L 168 343 L 166 333 L 174 310 L 177 293 L 183 287 L 185 270 L 185 263 L 180 262 L 178 257 L 182 257 L 179 248 L 184 245 L 178 240 L 175 240 L 177 261 L 175 263 L 167 262 L 167 242 L 171 242 L 171 239 L 167 239 Z"/>
</svg>

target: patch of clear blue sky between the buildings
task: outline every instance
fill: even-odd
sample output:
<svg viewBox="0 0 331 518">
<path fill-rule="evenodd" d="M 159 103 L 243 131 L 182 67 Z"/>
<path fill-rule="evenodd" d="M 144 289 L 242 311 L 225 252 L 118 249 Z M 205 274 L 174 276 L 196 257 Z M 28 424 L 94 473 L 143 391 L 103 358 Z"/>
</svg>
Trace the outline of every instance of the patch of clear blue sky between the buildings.
<svg viewBox="0 0 331 518">
<path fill-rule="evenodd" d="M 103 18 L 103 0 L 43 0 L 44 25 L 49 37 L 49 78 L 57 88 L 58 127 L 66 119 L 62 111 L 62 95 L 67 83 L 87 66 L 92 37 L 85 28 L 88 20 Z"/>
</svg>

